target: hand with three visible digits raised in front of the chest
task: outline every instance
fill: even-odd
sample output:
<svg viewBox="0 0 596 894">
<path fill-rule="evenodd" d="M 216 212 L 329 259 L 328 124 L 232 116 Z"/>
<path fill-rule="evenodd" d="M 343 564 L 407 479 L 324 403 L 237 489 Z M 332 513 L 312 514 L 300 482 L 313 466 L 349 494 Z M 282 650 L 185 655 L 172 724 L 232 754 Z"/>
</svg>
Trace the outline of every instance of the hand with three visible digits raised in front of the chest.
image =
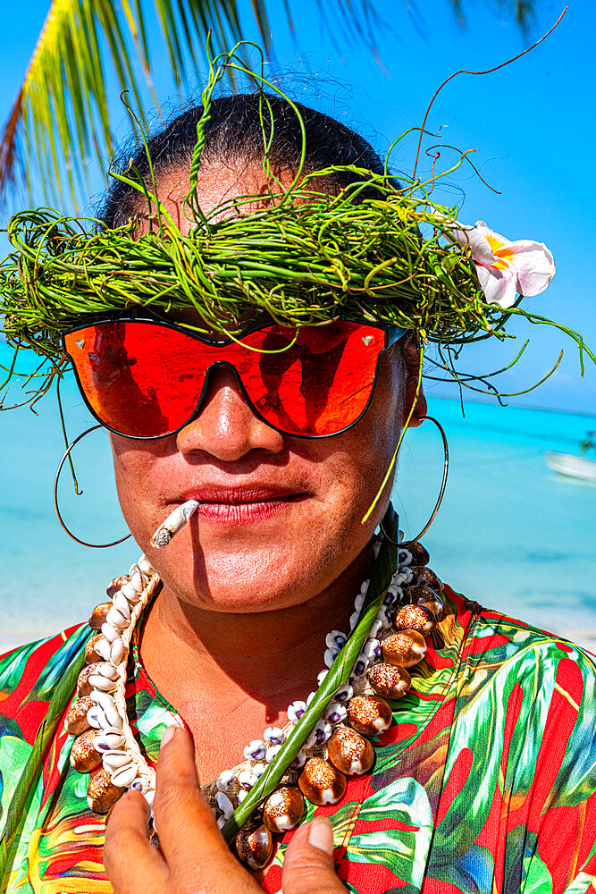
<svg viewBox="0 0 596 894">
<path fill-rule="evenodd" d="M 189 735 L 171 729 L 157 761 L 160 848 L 147 837 L 149 808 L 139 792 L 113 806 L 104 862 L 115 894 L 257 894 L 262 889 L 231 854 L 201 793 Z M 283 865 L 284 894 L 346 894 L 332 854 L 328 820 L 318 817 L 298 828 Z"/>
</svg>

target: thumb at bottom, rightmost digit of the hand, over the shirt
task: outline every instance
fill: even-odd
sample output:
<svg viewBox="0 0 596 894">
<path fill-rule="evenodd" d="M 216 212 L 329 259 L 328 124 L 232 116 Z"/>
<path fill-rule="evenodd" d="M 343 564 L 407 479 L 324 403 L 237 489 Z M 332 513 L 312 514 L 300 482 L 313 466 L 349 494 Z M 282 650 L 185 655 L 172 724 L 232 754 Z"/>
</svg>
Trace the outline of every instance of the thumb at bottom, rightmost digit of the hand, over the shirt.
<svg viewBox="0 0 596 894">
<path fill-rule="evenodd" d="M 335 874 L 332 824 L 324 816 L 300 826 L 291 839 L 281 888 L 283 894 L 346 894 Z"/>
</svg>

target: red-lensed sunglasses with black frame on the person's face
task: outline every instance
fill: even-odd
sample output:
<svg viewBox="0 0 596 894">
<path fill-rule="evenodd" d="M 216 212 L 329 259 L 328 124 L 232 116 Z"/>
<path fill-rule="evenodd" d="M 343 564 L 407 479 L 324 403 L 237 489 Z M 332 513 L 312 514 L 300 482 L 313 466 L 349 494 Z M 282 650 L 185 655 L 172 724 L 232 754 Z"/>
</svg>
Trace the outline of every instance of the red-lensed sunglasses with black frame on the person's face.
<svg viewBox="0 0 596 894">
<path fill-rule="evenodd" d="M 257 417 L 283 434 L 339 434 L 373 397 L 383 350 L 407 332 L 338 320 L 259 325 L 214 342 L 180 325 L 112 319 L 63 333 L 80 392 L 97 421 L 127 438 L 163 438 L 201 411 L 214 368 L 230 367 Z"/>
</svg>

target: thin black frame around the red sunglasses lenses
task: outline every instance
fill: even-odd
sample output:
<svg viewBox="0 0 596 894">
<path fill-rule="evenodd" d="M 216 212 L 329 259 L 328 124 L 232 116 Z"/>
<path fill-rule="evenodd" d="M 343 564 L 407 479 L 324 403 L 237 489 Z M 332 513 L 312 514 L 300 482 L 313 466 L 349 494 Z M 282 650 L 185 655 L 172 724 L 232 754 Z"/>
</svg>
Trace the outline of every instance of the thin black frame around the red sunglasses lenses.
<svg viewBox="0 0 596 894">
<path fill-rule="evenodd" d="M 94 419 L 97 420 L 97 422 L 99 423 L 100 426 L 103 426 L 109 432 L 112 432 L 113 434 L 118 434 L 122 438 L 128 438 L 130 441 L 160 441 L 163 438 L 172 437 L 173 434 L 178 434 L 183 428 L 188 426 L 194 419 L 196 419 L 200 415 L 201 410 L 203 409 L 206 392 L 208 391 L 209 381 L 211 379 L 211 373 L 212 373 L 212 370 L 214 369 L 214 367 L 216 367 L 217 369 L 221 369 L 223 367 L 228 367 L 231 369 L 232 373 L 234 374 L 234 376 L 239 384 L 239 388 L 240 388 L 240 391 L 242 392 L 242 396 L 243 396 L 244 400 L 248 403 L 248 406 L 250 407 L 252 412 L 255 414 L 255 416 L 258 419 L 260 419 L 261 422 L 263 422 L 265 426 L 269 426 L 270 428 L 273 428 L 275 431 L 279 432 L 280 434 L 283 434 L 285 437 L 301 438 L 306 441 L 315 441 L 315 440 L 321 440 L 323 438 L 332 438 L 332 437 L 335 437 L 336 434 L 342 434 L 343 432 L 347 432 L 348 429 L 350 429 L 352 426 L 355 426 L 357 424 L 357 422 L 360 421 L 360 419 L 365 415 L 366 410 L 369 408 L 371 401 L 373 400 L 377 380 L 379 377 L 379 364 L 381 361 L 382 354 L 384 354 L 384 352 L 388 348 L 390 348 L 390 346 L 392 344 L 399 342 L 399 340 L 401 338 L 403 338 L 403 336 L 409 332 L 408 329 L 402 329 L 400 326 L 377 325 L 374 323 L 370 323 L 367 320 L 357 320 L 357 319 L 353 319 L 348 316 L 340 317 L 338 319 L 338 322 L 358 323 L 360 325 L 373 326 L 375 329 L 381 329 L 385 333 L 385 344 L 377 355 L 376 366 L 374 368 L 373 386 L 371 388 L 371 393 L 368 397 L 368 401 L 366 401 L 365 408 L 358 415 L 357 419 L 355 419 L 353 422 L 350 422 L 350 424 L 348 426 L 344 426 L 343 428 L 340 428 L 337 432 L 330 432 L 329 434 L 296 434 L 294 432 L 285 431 L 285 429 L 280 428 L 279 426 L 274 426 L 273 423 L 271 423 L 267 419 L 265 419 L 261 415 L 261 413 L 258 411 L 258 409 L 256 409 L 255 405 L 248 397 L 247 390 L 244 387 L 244 383 L 242 382 L 239 371 L 236 369 L 236 367 L 234 367 L 234 365 L 232 363 L 230 363 L 227 360 L 214 360 L 214 362 L 209 367 L 206 368 L 205 381 L 203 383 L 203 387 L 201 389 L 201 393 L 200 393 L 198 401 L 197 401 L 197 406 L 193 410 L 192 415 L 184 423 L 182 423 L 181 426 L 178 426 L 178 428 L 172 429 L 171 432 L 165 432 L 164 434 L 152 434 L 152 435 L 149 435 L 148 437 L 147 436 L 141 437 L 141 436 L 135 435 L 135 434 L 124 434 L 123 432 L 119 432 L 116 428 L 113 428 L 112 426 L 108 426 L 104 422 L 104 420 L 101 419 L 97 415 L 97 412 L 95 411 L 95 409 L 93 409 L 93 407 L 91 406 L 91 404 L 88 401 L 85 390 L 83 389 L 82 385 L 80 384 L 80 378 L 79 378 L 79 373 L 77 372 L 77 367 L 76 367 L 73 359 L 71 358 L 71 355 L 69 354 L 68 350 L 66 350 L 66 336 L 67 335 L 71 335 L 72 333 L 80 332 L 82 329 L 87 329 L 88 326 L 92 326 L 92 325 L 104 325 L 104 324 L 109 324 L 109 323 L 145 323 L 147 325 L 159 325 L 165 329 L 173 329 L 176 332 L 180 332 L 184 335 L 187 335 L 189 338 L 194 339 L 196 342 L 201 342 L 202 344 L 207 344 L 207 345 L 211 345 L 214 347 L 223 347 L 225 345 L 237 344 L 238 342 L 241 342 L 242 338 L 245 335 L 250 335 L 251 333 L 258 332 L 259 330 L 265 329 L 265 328 L 267 328 L 267 326 L 270 326 L 270 325 L 276 325 L 274 322 L 271 322 L 271 321 L 267 322 L 267 323 L 262 322 L 262 323 L 254 325 L 254 326 L 251 326 L 249 329 L 243 330 L 242 334 L 238 338 L 238 341 L 234 341 L 234 339 L 222 339 L 221 341 L 214 341 L 213 339 L 208 339 L 205 336 L 199 335 L 197 333 L 193 333 L 186 326 L 179 325 L 177 323 L 172 323 L 170 321 L 166 322 L 164 320 L 156 319 L 154 317 L 109 316 L 109 317 L 102 317 L 101 319 L 89 320 L 86 325 L 73 326 L 71 329 L 66 329 L 63 331 L 63 333 L 61 333 L 61 340 L 62 340 L 62 347 L 63 347 L 64 355 L 67 358 L 69 358 L 69 360 L 71 361 L 72 371 L 74 373 L 74 377 L 75 377 L 77 386 L 79 388 L 80 395 L 81 395 L 89 413 L 91 414 L 91 416 Z"/>
</svg>

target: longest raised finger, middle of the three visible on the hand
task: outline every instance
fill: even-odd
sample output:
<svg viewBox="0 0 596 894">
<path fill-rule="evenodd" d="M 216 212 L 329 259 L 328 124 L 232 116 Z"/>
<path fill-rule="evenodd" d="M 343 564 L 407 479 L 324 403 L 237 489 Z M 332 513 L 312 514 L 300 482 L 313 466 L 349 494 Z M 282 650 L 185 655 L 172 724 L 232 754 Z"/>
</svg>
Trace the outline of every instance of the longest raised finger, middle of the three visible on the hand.
<svg viewBox="0 0 596 894">
<path fill-rule="evenodd" d="M 201 793 L 192 741 L 180 727 L 170 727 L 162 739 L 154 811 L 160 847 L 171 870 L 186 871 L 189 858 L 213 874 L 237 866 Z"/>
</svg>

